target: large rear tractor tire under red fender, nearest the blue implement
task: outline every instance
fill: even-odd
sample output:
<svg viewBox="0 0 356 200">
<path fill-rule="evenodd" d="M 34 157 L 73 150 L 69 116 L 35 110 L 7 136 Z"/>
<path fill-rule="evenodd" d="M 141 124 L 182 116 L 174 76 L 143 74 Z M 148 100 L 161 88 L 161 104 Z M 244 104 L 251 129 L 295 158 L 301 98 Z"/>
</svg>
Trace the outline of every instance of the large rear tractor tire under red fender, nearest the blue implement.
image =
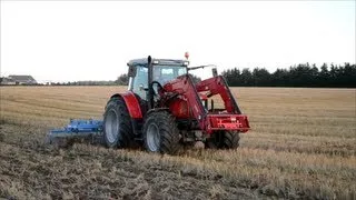
<svg viewBox="0 0 356 200">
<path fill-rule="evenodd" d="M 127 148 L 132 138 L 131 118 L 121 97 L 112 97 L 103 113 L 103 142 L 108 148 Z"/>
</svg>

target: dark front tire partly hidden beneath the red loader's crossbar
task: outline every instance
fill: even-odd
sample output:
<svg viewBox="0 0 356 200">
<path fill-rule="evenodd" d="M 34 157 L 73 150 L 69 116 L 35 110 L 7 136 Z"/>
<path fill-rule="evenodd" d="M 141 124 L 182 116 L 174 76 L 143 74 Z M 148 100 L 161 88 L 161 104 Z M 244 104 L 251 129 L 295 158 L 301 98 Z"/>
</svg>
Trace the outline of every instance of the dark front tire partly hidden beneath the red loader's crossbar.
<svg viewBox="0 0 356 200">
<path fill-rule="evenodd" d="M 237 149 L 239 141 L 240 136 L 237 131 L 217 131 L 207 140 L 206 147 L 211 149 Z"/>
</svg>

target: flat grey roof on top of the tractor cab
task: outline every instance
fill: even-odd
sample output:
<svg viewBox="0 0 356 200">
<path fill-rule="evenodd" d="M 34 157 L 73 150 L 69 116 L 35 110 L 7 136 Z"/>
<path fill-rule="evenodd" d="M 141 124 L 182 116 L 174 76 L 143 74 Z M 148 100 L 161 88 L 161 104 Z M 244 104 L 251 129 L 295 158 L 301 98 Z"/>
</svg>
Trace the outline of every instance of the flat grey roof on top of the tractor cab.
<svg viewBox="0 0 356 200">
<path fill-rule="evenodd" d="M 172 60 L 172 59 L 152 59 L 152 64 L 155 66 L 177 66 L 177 67 L 188 67 L 189 61 L 187 60 Z M 147 58 L 142 59 L 134 59 L 130 60 L 127 66 L 134 67 L 146 67 L 147 68 L 148 61 Z"/>
</svg>

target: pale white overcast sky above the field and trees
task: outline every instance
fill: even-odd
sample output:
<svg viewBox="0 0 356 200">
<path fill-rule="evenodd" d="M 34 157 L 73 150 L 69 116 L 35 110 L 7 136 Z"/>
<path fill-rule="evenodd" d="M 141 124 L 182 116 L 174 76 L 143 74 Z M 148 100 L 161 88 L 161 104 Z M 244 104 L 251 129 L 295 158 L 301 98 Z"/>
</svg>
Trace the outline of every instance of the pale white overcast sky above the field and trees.
<svg viewBox="0 0 356 200">
<path fill-rule="evenodd" d="M 191 66 L 219 72 L 355 63 L 355 1 L 1 1 L 1 76 L 115 80 L 130 59 L 186 51 Z"/>
</svg>

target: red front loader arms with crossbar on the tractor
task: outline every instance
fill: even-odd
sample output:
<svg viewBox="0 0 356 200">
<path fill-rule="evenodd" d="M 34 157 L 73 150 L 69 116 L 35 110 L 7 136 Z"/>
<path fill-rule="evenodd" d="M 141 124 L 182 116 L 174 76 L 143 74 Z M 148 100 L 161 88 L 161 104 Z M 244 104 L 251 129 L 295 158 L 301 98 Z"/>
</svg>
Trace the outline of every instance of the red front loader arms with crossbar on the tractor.
<svg viewBox="0 0 356 200">
<path fill-rule="evenodd" d="M 216 130 L 235 130 L 247 132 L 249 123 L 247 116 L 241 114 L 237 103 L 230 93 L 225 79 L 221 76 L 214 77 L 196 86 L 189 76 L 181 76 L 164 86 L 161 97 L 168 102 L 172 114 L 178 118 L 194 118 L 198 120 L 199 128 L 206 133 Z M 207 92 L 202 98 L 219 94 L 225 104 L 225 111 L 209 113 L 201 103 L 199 92 Z"/>
</svg>

